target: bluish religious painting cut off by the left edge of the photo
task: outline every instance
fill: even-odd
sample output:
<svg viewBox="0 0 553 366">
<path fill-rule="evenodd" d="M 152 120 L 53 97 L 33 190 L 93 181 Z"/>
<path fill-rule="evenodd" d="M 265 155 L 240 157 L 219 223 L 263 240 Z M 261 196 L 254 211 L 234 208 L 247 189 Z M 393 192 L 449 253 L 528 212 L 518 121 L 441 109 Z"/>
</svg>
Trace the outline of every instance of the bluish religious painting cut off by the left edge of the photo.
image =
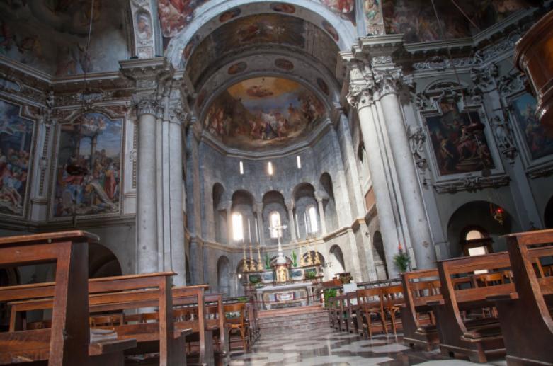
<svg viewBox="0 0 553 366">
<path fill-rule="evenodd" d="M 33 121 L 19 105 L 0 101 L 0 213 L 23 215 L 33 140 Z"/>
</svg>

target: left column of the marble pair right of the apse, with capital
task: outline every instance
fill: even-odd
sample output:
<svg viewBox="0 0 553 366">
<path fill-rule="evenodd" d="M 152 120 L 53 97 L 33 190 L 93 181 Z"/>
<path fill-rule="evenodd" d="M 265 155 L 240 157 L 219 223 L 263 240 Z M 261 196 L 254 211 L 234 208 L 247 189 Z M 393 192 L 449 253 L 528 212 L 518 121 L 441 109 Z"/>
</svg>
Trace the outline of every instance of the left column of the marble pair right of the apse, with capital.
<svg viewBox="0 0 553 366">
<path fill-rule="evenodd" d="M 384 173 L 384 156 L 378 139 L 377 113 L 372 99 L 372 73 L 363 72 L 354 64 L 350 70 L 350 84 L 348 103 L 358 112 L 359 124 L 363 142 L 367 148 L 367 163 L 372 180 L 372 190 L 375 193 L 375 202 L 380 222 L 380 232 L 384 241 L 384 254 L 390 278 L 397 278 L 398 271 L 394 265 L 394 255 L 397 253 L 399 235 L 392 206 L 392 195 L 389 192 L 389 183 Z"/>
</svg>

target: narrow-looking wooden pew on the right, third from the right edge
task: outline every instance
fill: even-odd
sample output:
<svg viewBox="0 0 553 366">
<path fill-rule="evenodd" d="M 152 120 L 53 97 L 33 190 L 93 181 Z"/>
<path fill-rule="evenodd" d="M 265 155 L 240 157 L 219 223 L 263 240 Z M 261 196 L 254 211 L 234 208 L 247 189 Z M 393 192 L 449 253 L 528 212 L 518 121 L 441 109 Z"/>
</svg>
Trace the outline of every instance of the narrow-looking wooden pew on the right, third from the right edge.
<svg viewBox="0 0 553 366">
<path fill-rule="evenodd" d="M 428 302 L 441 301 L 438 269 L 416 270 L 401 273 L 405 306 L 401 307 L 404 343 L 414 347 L 421 345 L 431 350 L 439 343 L 438 331 L 433 321 L 432 307 Z M 428 314 L 423 318 L 422 314 Z"/>
</svg>

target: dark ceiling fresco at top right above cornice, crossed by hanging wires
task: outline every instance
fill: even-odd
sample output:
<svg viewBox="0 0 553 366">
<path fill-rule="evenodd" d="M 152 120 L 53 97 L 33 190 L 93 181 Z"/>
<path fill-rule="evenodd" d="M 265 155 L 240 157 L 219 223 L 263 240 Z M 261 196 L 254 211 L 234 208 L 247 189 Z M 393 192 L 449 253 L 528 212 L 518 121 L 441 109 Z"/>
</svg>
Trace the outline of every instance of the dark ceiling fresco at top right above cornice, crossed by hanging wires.
<svg viewBox="0 0 553 366">
<path fill-rule="evenodd" d="M 404 33 L 406 43 L 442 40 L 440 27 L 447 39 L 469 37 L 502 21 L 526 5 L 524 0 L 462 1 L 462 11 L 476 25 L 474 26 L 449 1 L 436 1 L 435 4 L 441 24 L 436 19 L 433 7 L 428 5 L 428 0 L 384 0 L 382 12 L 386 33 Z M 365 12 L 365 16 L 368 13 Z"/>
</svg>

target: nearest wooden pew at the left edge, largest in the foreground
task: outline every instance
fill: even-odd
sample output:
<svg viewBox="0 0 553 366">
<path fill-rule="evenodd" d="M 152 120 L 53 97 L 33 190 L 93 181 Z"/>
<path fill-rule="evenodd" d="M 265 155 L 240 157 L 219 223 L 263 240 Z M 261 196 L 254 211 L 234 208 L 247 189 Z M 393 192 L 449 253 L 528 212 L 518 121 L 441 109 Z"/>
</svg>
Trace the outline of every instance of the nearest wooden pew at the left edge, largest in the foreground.
<svg viewBox="0 0 553 366">
<path fill-rule="evenodd" d="M 98 241 L 98 236 L 85 231 L 0 238 L 0 267 L 56 265 L 52 328 L 0 333 L 0 364 L 38 360 L 49 365 L 123 364 L 123 351 L 136 345 L 134 339 L 89 342 L 88 244 Z M 0 301 L 12 299 L 10 287 L 0 289 Z"/>
</svg>

